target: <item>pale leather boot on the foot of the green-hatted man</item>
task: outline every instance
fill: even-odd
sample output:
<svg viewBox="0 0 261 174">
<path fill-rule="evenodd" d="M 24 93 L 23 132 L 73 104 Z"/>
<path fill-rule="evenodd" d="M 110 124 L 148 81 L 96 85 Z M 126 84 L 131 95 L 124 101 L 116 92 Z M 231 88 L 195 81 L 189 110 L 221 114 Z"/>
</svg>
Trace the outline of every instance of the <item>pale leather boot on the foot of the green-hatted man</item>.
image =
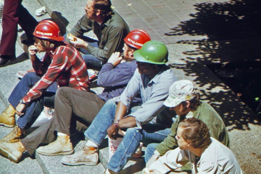
<svg viewBox="0 0 261 174">
<path fill-rule="evenodd" d="M 82 150 L 74 153 L 73 155 L 64 156 L 61 162 L 66 165 L 87 165 L 94 166 L 98 164 L 99 155 L 98 148 L 83 146 Z"/>
</svg>

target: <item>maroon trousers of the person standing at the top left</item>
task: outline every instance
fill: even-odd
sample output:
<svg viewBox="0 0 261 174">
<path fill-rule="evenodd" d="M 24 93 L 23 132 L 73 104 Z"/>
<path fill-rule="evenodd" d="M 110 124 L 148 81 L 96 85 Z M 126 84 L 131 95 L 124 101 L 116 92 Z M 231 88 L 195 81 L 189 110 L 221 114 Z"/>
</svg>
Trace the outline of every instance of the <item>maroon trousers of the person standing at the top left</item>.
<svg viewBox="0 0 261 174">
<path fill-rule="evenodd" d="M 4 0 L 0 55 L 15 55 L 17 24 L 25 31 L 28 39 L 33 39 L 38 22 L 22 6 L 22 0 Z"/>
</svg>

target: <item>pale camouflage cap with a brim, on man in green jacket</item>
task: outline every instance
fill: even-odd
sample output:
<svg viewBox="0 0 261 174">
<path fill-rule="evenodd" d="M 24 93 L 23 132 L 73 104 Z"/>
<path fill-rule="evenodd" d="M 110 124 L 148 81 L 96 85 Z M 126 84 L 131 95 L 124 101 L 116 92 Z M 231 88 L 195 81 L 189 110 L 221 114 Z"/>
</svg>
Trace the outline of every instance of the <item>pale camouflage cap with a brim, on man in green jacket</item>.
<svg viewBox="0 0 261 174">
<path fill-rule="evenodd" d="M 167 107 L 175 107 L 182 101 L 191 100 L 196 97 L 194 85 L 189 80 L 175 81 L 169 87 L 169 96 L 164 101 Z"/>
</svg>

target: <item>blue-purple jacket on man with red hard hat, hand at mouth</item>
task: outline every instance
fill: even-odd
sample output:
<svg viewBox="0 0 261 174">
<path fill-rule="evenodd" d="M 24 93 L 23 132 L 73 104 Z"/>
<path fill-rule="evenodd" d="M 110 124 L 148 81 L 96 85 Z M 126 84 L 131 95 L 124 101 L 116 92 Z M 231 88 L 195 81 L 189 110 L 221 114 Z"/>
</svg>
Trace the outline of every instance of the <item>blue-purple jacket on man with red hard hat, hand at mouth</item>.
<svg viewBox="0 0 261 174">
<path fill-rule="evenodd" d="M 112 63 L 104 64 L 97 80 L 97 85 L 104 87 L 104 90 L 98 97 L 107 101 L 120 96 L 137 69 L 136 62 L 136 60 L 126 61 L 118 64 L 116 67 L 114 67 Z M 139 94 L 133 102 L 141 105 L 141 97 Z"/>
</svg>

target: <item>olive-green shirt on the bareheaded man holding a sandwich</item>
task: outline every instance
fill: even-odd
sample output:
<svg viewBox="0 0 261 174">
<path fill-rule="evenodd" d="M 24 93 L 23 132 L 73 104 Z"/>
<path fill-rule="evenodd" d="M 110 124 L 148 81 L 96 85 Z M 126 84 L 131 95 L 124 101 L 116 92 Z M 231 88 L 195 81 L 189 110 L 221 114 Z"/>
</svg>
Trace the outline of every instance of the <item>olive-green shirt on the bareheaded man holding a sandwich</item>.
<svg viewBox="0 0 261 174">
<path fill-rule="evenodd" d="M 84 33 L 91 30 L 98 38 L 98 48 L 88 45 L 86 50 L 101 60 L 108 59 L 116 51 L 122 52 L 124 46 L 123 39 L 130 32 L 124 19 L 113 10 L 113 14 L 106 18 L 101 25 L 83 15 L 71 29 L 70 33 L 81 38 Z M 65 41 L 69 42 L 67 38 Z"/>
</svg>

